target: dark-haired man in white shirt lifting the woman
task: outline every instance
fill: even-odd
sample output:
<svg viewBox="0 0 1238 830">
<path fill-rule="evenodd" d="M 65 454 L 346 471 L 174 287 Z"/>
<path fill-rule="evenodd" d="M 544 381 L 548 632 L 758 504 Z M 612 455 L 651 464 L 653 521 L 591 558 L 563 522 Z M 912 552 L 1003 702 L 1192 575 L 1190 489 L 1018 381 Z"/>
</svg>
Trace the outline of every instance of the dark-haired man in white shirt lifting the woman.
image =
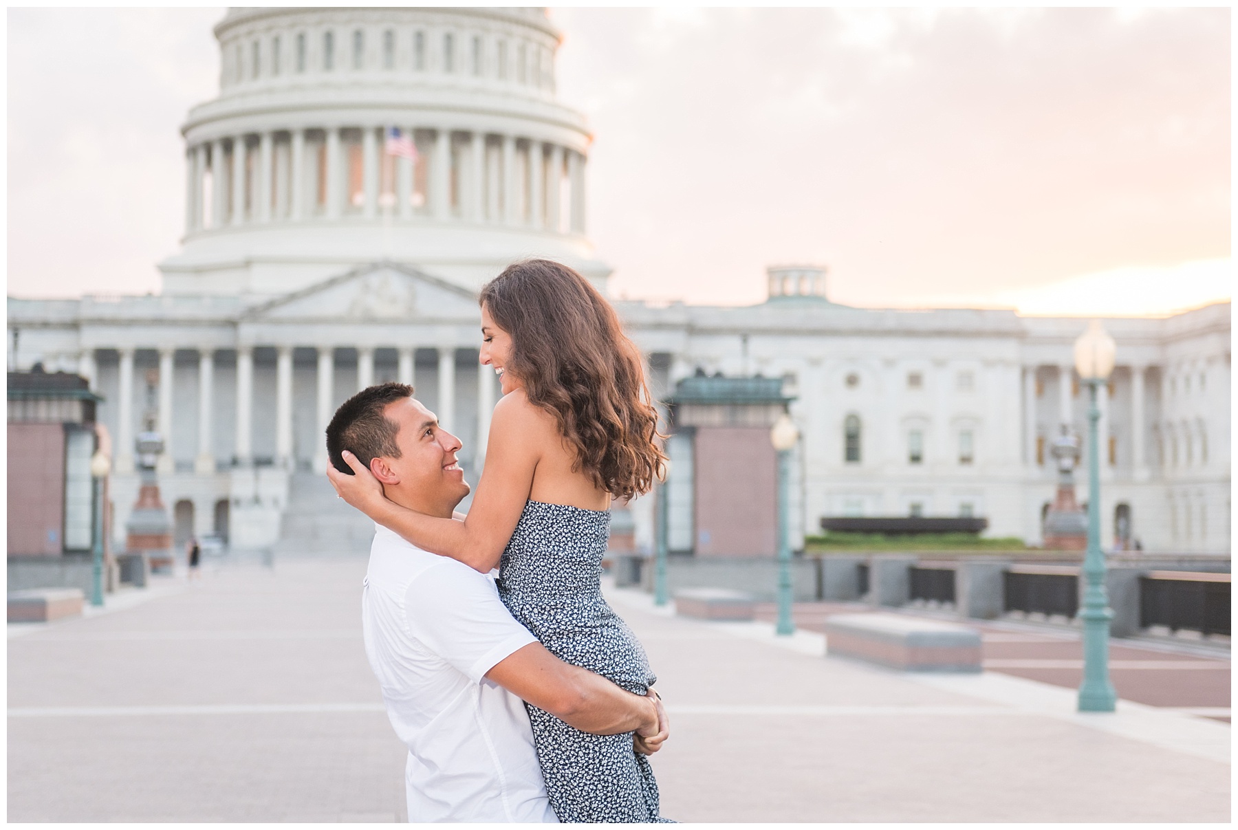
<svg viewBox="0 0 1238 830">
<path fill-rule="evenodd" d="M 349 450 L 391 501 L 451 518 L 469 492 L 461 442 L 404 383 L 371 386 L 327 427 L 337 470 Z M 595 735 L 666 738 L 656 696 L 563 663 L 517 623 L 494 581 L 375 526 L 361 599 L 365 653 L 409 747 L 409 821 L 555 821 L 521 699 Z"/>
</svg>

